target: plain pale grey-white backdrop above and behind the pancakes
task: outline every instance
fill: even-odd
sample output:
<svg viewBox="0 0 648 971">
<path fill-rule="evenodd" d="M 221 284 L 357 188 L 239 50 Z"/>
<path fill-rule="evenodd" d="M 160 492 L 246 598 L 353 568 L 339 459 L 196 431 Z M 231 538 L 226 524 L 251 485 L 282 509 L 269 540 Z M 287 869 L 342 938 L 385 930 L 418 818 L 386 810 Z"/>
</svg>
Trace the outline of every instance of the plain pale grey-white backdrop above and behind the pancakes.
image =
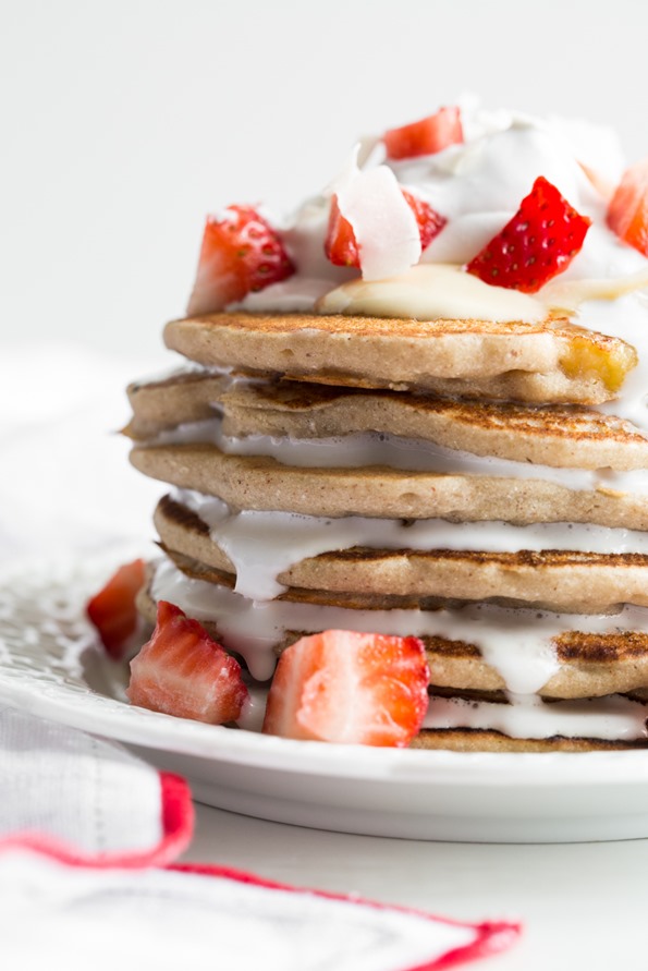
<svg viewBox="0 0 648 971">
<path fill-rule="evenodd" d="M 643 0 L 0 0 L 0 337 L 160 354 L 206 211 L 464 90 L 648 151 Z"/>
</svg>

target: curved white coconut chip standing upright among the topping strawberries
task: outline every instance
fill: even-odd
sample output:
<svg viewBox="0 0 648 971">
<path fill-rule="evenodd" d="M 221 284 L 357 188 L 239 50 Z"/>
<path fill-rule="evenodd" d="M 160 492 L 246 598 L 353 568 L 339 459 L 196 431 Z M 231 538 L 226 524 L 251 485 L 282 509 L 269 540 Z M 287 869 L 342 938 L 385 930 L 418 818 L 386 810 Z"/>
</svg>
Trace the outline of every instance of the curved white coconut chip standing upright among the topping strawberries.
<svg viewBox="0 0 648 971">
<path fill-rule="evenodd" d="M 420 231 L 391 169 L 358 169 L 359 147 L 331 189 L 341 214 L 353 228 L 363 279 L 384 280 L 418 263 Z"/>
</svg>

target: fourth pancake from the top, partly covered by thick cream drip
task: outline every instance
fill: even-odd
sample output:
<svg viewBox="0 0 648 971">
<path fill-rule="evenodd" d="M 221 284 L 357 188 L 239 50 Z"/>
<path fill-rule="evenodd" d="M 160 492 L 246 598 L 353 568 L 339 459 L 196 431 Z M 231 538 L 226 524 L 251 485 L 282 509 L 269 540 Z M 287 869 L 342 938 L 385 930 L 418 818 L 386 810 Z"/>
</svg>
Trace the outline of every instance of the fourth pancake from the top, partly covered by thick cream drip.
<svg viewBox="0 0 648 971">
<path fill-rule="evenodd" d="M 155 525 L 164 545 L 223 573 L 236 568 L 218 532 L 170 496 L 158 503 Z M 259 546 L 260 546 L 259 542 Z M 261 558 L 259 551 L 259 559 Z M 489 553 L 382 549 L 353 546 L 298 559 L 277 574 L 289 587 L 398 597 L 528 603 L 547 610 L 604 614 L 619 604 L 648 606 L 648 556 L 578 550 Z"/>
</svg>

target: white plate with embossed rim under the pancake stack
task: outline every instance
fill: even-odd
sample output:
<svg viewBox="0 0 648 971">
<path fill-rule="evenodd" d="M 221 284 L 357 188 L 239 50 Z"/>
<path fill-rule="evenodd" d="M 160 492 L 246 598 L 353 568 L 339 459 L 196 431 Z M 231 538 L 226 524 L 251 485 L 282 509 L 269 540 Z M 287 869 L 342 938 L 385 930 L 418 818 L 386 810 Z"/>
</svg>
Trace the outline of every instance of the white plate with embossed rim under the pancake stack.
<svg viewBox="0 0 648 971">
<path fill-rule="evenodd" d="M 0 583 L 0 701 L 129 744 L 201 802 L 282 823 L 489 842 L 648 837 L 648 752 L 293 742 L 130 706 L 125 666 L 105 657 L 83 609 L 114 562 L 35 565 Z"/>
</svg>

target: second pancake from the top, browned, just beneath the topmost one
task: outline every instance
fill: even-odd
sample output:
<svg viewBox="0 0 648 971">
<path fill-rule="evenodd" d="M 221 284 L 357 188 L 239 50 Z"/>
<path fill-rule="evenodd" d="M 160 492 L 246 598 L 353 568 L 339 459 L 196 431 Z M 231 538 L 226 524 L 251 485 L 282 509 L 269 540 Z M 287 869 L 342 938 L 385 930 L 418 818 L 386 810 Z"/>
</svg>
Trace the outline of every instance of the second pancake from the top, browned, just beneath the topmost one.
<svg viewBox="0 0 648 971">
<path fill-rule="evenodd" d="M 126 433 L 146 440 L 223 413 L 228 436 L 298 439 L 389 433 L 477 456 L 577 469 L 648 468 L 648 438 L 628 422 L 579 406 L 529 408 L 357 391 L 291 381 L 239 381 L 187 372 L 131 385 Z"/>
</svg>

